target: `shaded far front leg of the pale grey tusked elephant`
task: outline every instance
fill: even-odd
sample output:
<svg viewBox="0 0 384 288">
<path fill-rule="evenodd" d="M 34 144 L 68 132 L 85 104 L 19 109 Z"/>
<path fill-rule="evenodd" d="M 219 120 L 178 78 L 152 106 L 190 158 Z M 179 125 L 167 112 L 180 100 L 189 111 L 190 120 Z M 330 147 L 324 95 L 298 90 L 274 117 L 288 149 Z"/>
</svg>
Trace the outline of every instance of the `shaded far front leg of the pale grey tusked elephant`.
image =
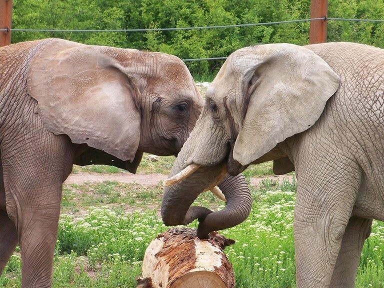
<svg viewBox="0 0 384 288">
<path fill-rule="evenodd" d="M 370 234 L 371 219 L 352 216 L 342 236 L 330 287 L 354 287 L 362 245 Z"/>
</svg>

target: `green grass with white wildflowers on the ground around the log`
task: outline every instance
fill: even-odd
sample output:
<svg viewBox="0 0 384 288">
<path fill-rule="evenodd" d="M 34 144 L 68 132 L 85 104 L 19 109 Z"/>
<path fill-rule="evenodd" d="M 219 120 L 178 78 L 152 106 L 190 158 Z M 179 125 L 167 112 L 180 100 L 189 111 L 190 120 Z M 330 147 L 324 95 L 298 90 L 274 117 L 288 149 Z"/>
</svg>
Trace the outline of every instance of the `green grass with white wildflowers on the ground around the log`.
<svg viewBox="0 0 384 288">
<path fill-rule="evenodd" d="M 293 207 L 296 183 L 263 180 L 252 187 L 249 217 L 221 233 L 236 243 L 224 251 L 236 287 L 294 287 Z M 135 287 L 148 243 L 166 230 L 160 218 L 161 187 L 106 181 L 66 185 L 54 256 L 53 287 Z M 221 209 L 203 193 L 195 204 Z M 76 212 L 77 211 L 77 212 Z M 195 227 L 196 221 L 190 224 Z M 375 221 L 365 242 L 356 287 L 384 287 L 384 225 Z M 19 253 L 12 255 L 0 286 L 20 286 Z"/>
</svg>

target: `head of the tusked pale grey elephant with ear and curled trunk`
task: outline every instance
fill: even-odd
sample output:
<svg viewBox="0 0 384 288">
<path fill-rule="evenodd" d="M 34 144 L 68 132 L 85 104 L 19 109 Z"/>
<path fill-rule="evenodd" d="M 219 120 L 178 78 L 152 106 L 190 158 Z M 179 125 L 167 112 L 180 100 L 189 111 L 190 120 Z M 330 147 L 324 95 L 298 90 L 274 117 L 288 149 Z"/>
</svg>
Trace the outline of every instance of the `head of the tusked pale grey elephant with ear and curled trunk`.
<svg viewBox="0 0 384 288">
<path fill-rule="evenodd" d="M 240 176 L 224 179 L 224 186 L 230 187 L 223 187 L 229 195 L 224 210 L 211 213 L 189 206 L 225 171 L 236 175 L 265 160 L 290 163 L 278 143 L 311 127 L 338 84 L 326 62 L 304 47 L 265 44 L 233 52 L 208 87 L 202 113 L 172 167 L 170 176 L 190 164 L 198 168 L 165 187 L 164 223 L 183 224 L 192 215 L 200 218 L 198 235 L 206 237 L 243 221 L 250 200 Z M 275 170 L 292 168 L 290 163 Z"/>
</svg>

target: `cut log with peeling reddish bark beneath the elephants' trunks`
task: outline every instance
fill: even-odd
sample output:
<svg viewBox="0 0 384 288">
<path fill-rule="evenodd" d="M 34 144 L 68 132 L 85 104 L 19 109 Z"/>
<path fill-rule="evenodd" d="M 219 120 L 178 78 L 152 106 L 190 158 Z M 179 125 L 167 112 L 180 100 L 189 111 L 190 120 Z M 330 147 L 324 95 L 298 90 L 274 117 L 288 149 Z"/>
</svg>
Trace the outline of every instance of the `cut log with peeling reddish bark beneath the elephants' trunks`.
<svg viewBox="0 0 384 288">
<path fill-rule="evenodd" d="M 172 228 L 147 247 L 136 288 L 233 288 L 231 263 L 222 250 L 234 241 L 217 232 L 199 239 L 196 230 Z"/>
</svg>

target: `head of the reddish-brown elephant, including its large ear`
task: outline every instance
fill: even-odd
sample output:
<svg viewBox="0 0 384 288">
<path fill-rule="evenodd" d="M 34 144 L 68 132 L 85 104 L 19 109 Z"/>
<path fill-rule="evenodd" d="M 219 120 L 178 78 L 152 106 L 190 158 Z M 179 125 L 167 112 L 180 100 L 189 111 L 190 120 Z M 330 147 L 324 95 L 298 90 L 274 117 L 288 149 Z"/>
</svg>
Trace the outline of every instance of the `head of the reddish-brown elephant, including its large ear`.
<svg viewBox="0 0 384 288">
<path fill-rule="evenodd" d="M 131 172 L 142 152 L 176 155 L 202 106 L 176 56 L 62 39 L 46 40 L 33 56 L 28 93 L 49 131 L 80 144 L 75 164 Z"/>
</svg>

